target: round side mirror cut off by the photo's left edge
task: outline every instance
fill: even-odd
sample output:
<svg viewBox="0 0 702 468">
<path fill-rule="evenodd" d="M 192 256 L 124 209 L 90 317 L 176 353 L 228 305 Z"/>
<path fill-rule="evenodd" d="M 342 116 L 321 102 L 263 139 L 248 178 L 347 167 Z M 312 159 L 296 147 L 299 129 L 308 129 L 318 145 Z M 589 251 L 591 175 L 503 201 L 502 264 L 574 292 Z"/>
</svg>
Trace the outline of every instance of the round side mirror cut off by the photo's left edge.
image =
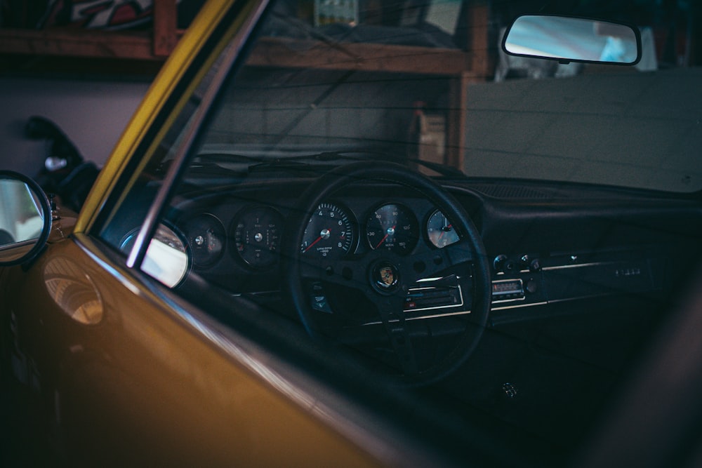
<svg viewBox="0 0 702 468">
<path fill-rule="evenodd" d="M 0 267 L 37 258 L 51 233 L 51 206 L 34 180 L 0 171 Z"/>
</svg>

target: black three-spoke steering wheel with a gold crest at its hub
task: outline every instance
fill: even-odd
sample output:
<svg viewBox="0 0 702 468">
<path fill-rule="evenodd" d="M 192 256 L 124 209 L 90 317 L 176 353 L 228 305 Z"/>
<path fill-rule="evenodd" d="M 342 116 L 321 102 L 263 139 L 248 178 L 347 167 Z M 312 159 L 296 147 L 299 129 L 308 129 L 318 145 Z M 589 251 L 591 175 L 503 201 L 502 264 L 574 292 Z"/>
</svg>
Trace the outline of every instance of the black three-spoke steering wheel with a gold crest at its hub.
<svg viewBox="0 0 702 468">
<path fill-rule="evenodd" d="M 328 200 L 342 187 L 357 182 L 390 182 L 409 187 L 435 204 L 458 233 L 459 240 L 444 248 L 421 246 L 410 255 L 400 255 L 379 248 L 363 253 L 348 254 L 339 260 L 305 255 L 300 246 L 308 221 L 319 203 Z M 293 219 L 294 230 L 284 240 L 282 258 L 286 291 L 307 333 L 312 337 L 328 337 L 322 324 L 333 321 L 331 314 L 312 307 L 310 283 L 352 288 L 376 306 L 379 321 L 392 351 L 397 356 L 402 380 L 406 383 L 427 384 L 439 380 L 461 366 L 475 349 L 485 327 L 491 300 L 490 266 L 482 238 L 461 203 L 429 178 L 395 163 L 367 161 L 349 163 L 334 168 L 312 183 L 300 197 Z M 416 281 L 441 276 L 446 269 L 461 265 L 463 275 L 472 274 L 473 291 L 470 314 L 465 329 L 456 338 L 450 351 L 432 361 L 428 368 L 419 368 L 416 347 L 405 319 L 407 292 Z M 331 302 L 331 301 L 329 301 Z M 363 333 L 363 326 L 359 332 Z"/>
</svg>

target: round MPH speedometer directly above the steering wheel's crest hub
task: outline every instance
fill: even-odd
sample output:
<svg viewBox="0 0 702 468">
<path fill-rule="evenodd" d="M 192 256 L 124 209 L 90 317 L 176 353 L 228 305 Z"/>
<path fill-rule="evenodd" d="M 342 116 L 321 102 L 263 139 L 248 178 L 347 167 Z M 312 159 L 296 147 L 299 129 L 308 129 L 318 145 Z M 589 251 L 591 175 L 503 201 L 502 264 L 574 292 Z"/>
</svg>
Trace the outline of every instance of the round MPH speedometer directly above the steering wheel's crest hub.
<svg viewBox="0 0 702 468">
<path fill-rule="evenodd" d="M 380 206 L 366 221 L 366 239 L 373 250 L 409 253 L 419 239 L 417 218 L 402 205 Z"/>
</svg>

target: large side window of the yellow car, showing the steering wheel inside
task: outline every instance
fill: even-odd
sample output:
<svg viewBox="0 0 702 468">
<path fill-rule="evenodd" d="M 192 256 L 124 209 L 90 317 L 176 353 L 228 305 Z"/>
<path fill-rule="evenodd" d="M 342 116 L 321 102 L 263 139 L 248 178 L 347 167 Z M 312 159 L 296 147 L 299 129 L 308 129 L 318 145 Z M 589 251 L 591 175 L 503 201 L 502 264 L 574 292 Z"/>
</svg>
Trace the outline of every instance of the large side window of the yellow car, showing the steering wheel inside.
<svg viewBox="0 0 702 468">
<path fill-rule="evenodd" d="M 364 404 L 456 460 L 478 430 L 472 448 L 504 445 L 489 462 L 563 462 L 671 297 L 676 248 L 699 248 L 665 204 L 688 213 L 702 189 L 698 62 L 661 53 L 657 3 L 599 3 L 550 13 L 633 23 L 636 65 L 506 55 L 529 2 L 272 4 L 206 118 L 192 98 L 100 236 L 319 379 L 343 380 L 337 358 L 377 377 L 380 401 L 402 401 Z M 628 326 L 616 353 L 593 344 Z"/>
</svg>

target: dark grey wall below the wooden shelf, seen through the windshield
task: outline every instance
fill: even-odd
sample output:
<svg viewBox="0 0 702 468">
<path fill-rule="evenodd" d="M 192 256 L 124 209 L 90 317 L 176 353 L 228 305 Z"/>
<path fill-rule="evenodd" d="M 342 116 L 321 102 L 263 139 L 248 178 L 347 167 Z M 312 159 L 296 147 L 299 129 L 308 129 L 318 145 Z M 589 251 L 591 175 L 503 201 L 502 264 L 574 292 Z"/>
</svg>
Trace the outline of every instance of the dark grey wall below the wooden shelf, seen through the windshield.
<svg viewBox="0 0 702 468">
<path fill-rule="evenodd" d="M 446 107 L 448 88 L 448 79 L 429 76 L 250 69 L 225 97 L 207 140 L 330 149 L 370 141 L 402 155 L 413 102 Z"/>
</svg>

